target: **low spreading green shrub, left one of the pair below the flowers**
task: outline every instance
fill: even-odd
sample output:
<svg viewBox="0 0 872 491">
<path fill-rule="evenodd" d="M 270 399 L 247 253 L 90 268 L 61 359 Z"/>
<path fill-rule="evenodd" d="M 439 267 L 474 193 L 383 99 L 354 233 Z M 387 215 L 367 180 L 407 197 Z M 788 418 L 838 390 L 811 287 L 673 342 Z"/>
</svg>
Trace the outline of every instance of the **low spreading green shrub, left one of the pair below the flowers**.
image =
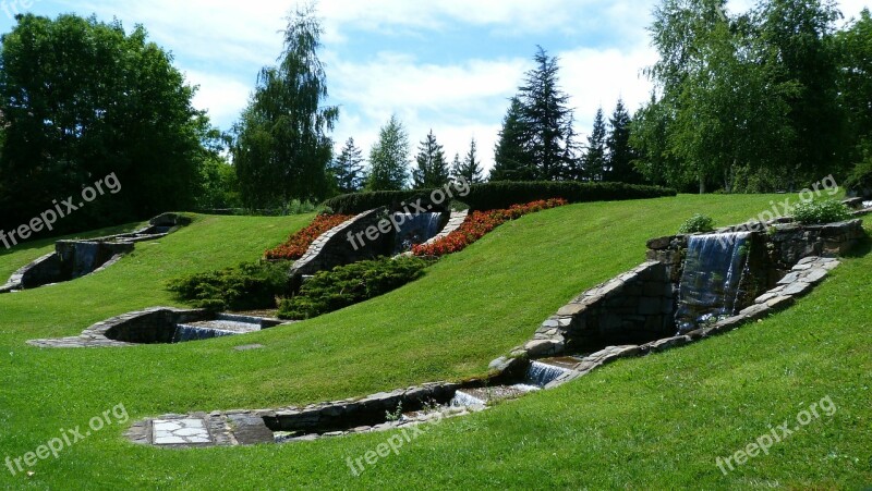
<svg viewBox="0 0 872 491">
<path fill-rule="evenodd" d="M 196 308 L 257 310 L 276 307 L 288 295 L 291 262 L 243 262 L 235 268 L 172 280 L 167 290 Z"/>
</svg>

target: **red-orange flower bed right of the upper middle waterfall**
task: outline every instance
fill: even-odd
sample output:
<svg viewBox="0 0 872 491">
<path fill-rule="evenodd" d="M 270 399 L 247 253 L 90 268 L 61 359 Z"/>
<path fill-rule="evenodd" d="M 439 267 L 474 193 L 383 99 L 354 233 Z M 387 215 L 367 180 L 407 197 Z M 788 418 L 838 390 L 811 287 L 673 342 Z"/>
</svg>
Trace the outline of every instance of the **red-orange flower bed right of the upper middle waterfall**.
<svg viewBox="0 0 872 491">
<path fill-rule="evenodd" d="M 429 245 L 417 245 L 412 247 L 415 256 L 445 256 L 459 253 L 470 244 L 485 236 L 497 226 L 517 220 L 524 214 L 535 213 L 536 211 L 547 210 L 567 205 L 566 199 L 548 199 L 533 201 L 526 205 L 514 205 L 507 210 L 475 211 L 460 225 L 460 229 L 451 232 Z"/>
</svg>

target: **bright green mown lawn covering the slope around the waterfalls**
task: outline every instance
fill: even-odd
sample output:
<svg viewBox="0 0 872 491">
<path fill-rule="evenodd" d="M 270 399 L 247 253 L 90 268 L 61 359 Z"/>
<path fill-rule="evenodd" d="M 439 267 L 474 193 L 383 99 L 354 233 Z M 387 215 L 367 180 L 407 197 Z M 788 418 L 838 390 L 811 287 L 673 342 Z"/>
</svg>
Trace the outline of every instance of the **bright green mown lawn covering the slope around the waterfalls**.
<svg viewBox="0 0 872 491">
<path fill-rule="evenodd" d="M 591 204 L 510 223 L 423 280 L 371 303 L 245 337 L 122 351 L 37 351 L 36 336 L 169 304 L 161 283 L 256 257 L 300 219 L 208 218 L 102 274 L 0 296 L 0 449 L 34 450 L 59 428 L 123 403 L 134 418 L 269 407 L 482 373 L 567 299 L 642 260 L 644 241 L 695 211 L 719 223 L 771 197 Z M 239 233 L 235 228 L 244 228 Z M 0 257 L 0 269 L 15 269 Z M 872 259 L 848 261 L 796 309 L 695 346 L 618 364 L 433 429 L 362 478 L 346 467 L 386 434 L 312 444 L 172 452 L 106 429 L 0 487 L 822 487 L 872 482 L 868 352 Z M 100 281 L 97 281 L 100 280 Z M 839 312 L 835 318 L 833 312 Z M 238 353 L 258 342 L 265 349 Z M 3 359 L 5 358 L 5 359 Z M 831 395 L 833 418 L 724 478 L 714 458 Z M 0 455 L 0 458 L 4 455 Z M 99 464 L 97 464 L 99 463 Z"/>
</svg>

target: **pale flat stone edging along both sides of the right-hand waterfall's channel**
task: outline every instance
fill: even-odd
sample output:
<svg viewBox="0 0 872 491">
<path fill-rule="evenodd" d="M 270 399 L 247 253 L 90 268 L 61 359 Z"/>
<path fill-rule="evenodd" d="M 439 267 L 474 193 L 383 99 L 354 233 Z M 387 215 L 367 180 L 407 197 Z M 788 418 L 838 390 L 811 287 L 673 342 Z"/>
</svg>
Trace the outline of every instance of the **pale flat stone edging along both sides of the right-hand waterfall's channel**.
<svg viewBox="0 0 872 491">
<path fill-rule="evenodd" d="M 585 292 L 560 309 L 557 316 L 546 320 L 536 331 L 536 335 L 532 341 L 522 347 L 514 348 L 509 357 L 497 358 L 491 364 L 491 367 L 498 370 L 506 370 L 517 364 L 523 363 L 524 359 L 562 354 L 566 334 L 570 326 L 576 321 L 576 316 L 582 314 L 590 303 L 602 299 L 604 296 L 618 289 L 620 284 L 627 281 L 628 275 L 638 274 L 641 270 L 649 268 L 651 265 L 651 262 L 645 262 L 629 273 Z M 761 320 L 794 305 L 797 298 L 811 292 L 814 286 L 820 284 L 827 277 L 829 271 L 834 270 L 839 265 L 840 262 L 833 258 L 809 257 L 802 259 L 794 267 L 787 277 L 778 282 L 778 286 L 758 297 L 754 300 L 754 305 L 746 308 L 738 315 L 716 322 L 712 327 L 698 329 L 685 335 L 665 337 L 642 345 L 606 347 L 605 349 L 581 359 L 578 365 L 571 368 L 570 372 L 557 378 L 547 384 L 545 389 L 553 389 L 561 385 L 620 358 L 665 352 L 674 347 L 683 346 L 713 335 L 732 331 L 748 322 Z"/>
</svg>

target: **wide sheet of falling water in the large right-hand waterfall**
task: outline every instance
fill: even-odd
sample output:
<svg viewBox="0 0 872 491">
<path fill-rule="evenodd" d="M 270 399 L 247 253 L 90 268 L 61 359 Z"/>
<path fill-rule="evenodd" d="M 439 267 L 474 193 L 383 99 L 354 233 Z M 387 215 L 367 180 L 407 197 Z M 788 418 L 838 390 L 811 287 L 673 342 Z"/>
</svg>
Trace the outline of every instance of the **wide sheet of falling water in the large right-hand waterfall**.
<svg viewBox="0 0 872 491">
<path fill-rule="evenodd" d="M 679 332 L 736 314 L 748 267 L 749 232 L 694 235 L 688 240 L 676 322 Z"/>
</svg>

